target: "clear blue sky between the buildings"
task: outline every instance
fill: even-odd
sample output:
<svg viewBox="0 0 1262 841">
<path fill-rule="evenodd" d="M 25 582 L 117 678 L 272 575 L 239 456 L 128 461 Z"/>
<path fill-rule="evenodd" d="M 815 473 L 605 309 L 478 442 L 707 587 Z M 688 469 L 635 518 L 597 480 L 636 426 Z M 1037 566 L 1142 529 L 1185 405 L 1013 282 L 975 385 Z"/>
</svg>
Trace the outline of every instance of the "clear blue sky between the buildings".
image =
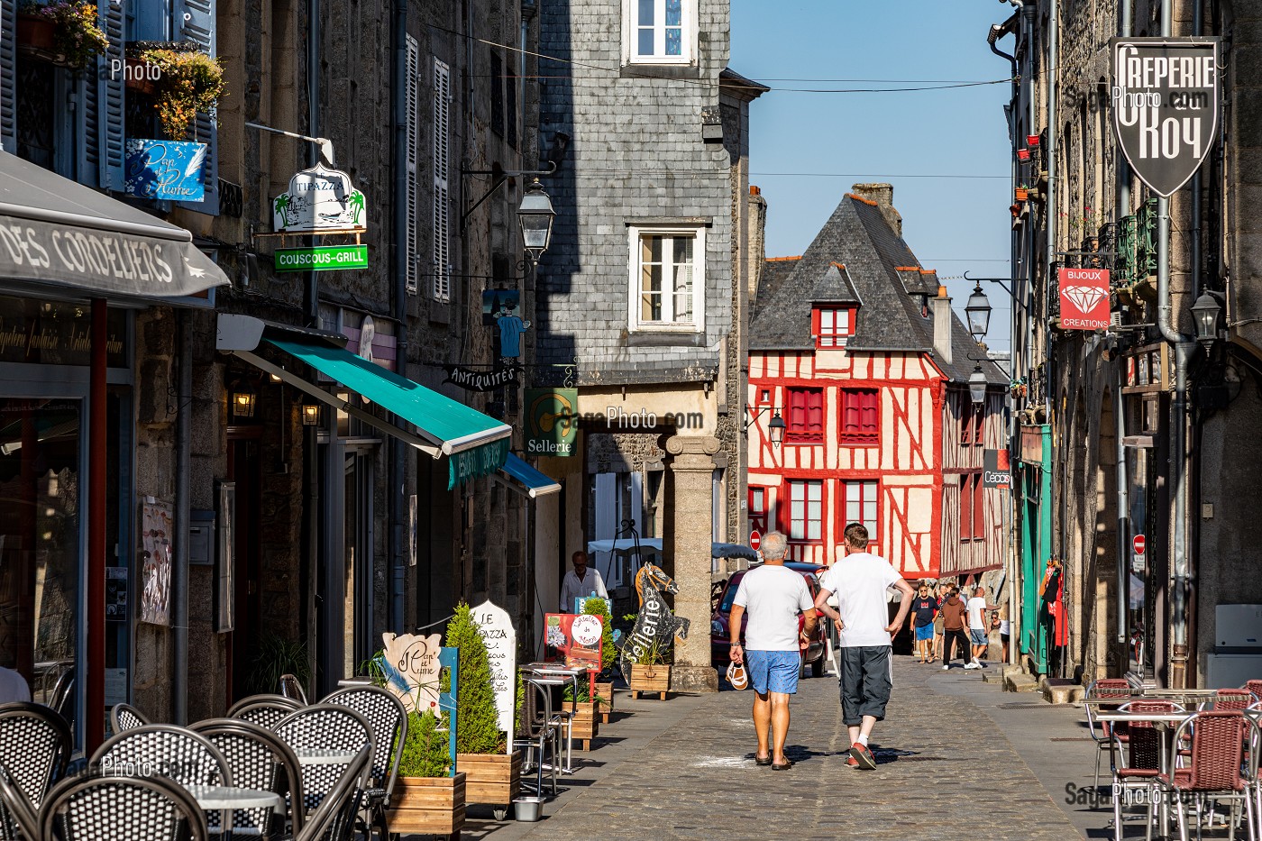
<svg viewBox="0 0 1262 841">
<path fill-rule="evenodd" d="M 991 24 L 1012 11 L 994 0 L 732 0 L 736 72 L 772 88 L 912 87 L 902 80 L 1007 78 L 989 51 Z M 1000 48 L 1011 51 L 1011 35 Z M 891 80 L 800 82 L 790 80 Z M 767 255 L 801 254 L 842 194 L 862 181 L 893 184 L 911 250 L 940 278 L 1008 277 L 1011 86 L 899 93 L 771 91 L 750 114 L 750 182 L 767 200 Z M 771 173 L 847 173 L 786 177 Z M 1000 178 L 909 178 L 967 174 Z M 902 177 L 900 177 L 902 176 Z M 988 343 L 1008 347 L 1010 302 L 986 285 Z M 963 314 L 972 284 L 946 280 Z"/>
</svg>

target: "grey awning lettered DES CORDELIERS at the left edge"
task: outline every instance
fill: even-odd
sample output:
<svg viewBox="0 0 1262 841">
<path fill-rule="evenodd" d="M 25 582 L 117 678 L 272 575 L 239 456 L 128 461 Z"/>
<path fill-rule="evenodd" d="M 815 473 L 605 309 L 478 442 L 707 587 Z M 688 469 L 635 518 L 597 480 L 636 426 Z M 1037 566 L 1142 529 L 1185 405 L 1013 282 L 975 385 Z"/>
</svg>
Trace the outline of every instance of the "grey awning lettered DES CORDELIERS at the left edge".
<svg viewBox="0 0 1262 841">
<path fill-rule="evenodd" d="M 0 152 L 0 280 L 105 298 L 177 298 L 228 283 L 182 227 Z"/>
</svg>

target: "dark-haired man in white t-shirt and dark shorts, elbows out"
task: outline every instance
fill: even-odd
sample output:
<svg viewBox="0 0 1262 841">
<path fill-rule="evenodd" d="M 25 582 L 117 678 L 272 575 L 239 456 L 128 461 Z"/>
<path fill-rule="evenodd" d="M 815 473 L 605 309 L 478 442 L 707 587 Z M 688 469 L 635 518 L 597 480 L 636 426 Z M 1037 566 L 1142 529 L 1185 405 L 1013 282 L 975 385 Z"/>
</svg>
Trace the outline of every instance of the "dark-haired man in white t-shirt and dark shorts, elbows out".
<svg viewBox="0 0 1262 841">
<path fill-rule="evenodd" d="M 815 609 L 839 629 L 842 719 L 851 737 L 851 758 L 846 764 L 871 770 L 876 768 L 876 758 L 868 749 L 868 737 L 873 725 L 885 719 L 893 688 L 890 634 L 902 628 L 915 591 L 888 561 L 868 553 L 868 533 L 862 523 L 846 527 L 846 546 L 851 553 L 819 580 Z M 890 587 L 902 593 L 899 616 L 892 623 L 886 599 Z M 828 605 L 834 592 L 837 610 Z"/>
</svg>

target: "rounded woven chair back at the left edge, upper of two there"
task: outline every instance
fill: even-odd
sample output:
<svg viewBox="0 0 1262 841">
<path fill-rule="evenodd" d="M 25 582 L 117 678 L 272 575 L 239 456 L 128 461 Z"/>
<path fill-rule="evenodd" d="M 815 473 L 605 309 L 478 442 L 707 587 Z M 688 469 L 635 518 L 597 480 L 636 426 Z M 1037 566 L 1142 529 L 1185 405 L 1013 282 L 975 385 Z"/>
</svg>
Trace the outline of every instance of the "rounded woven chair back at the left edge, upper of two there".
<svg viewBox="0 0 1262 841">
<path fill-rule="evenodd" d="M 69 725 L 50 707 L 27 702 L 0 705 L 0 765 L 32 816 L 66 772 L 71 746 Z M 0 803 L 0 838 L 14 837 L 16 830 L 8 803 Z"/>
</svg>

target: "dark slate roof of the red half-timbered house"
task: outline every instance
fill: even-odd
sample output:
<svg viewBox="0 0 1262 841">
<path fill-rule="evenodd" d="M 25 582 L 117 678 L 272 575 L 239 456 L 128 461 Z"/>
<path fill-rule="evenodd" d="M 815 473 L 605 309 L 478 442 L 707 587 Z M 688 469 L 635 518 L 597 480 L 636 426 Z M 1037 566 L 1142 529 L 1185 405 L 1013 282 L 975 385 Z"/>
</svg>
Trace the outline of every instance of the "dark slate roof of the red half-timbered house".
<svg viewBox="0 0 1262 841">
<path fill-rule="evenodd" d="M 791 266 L 791 268 L 789 268 Z M 857 303 L 856 332 L 847 347 L 933 354 L 933 309 L 923 316 L 919 293 L 935 294 L 936 274 L 916 255 L 873 202 L 847 193 L 810 248 L 796 260 L 767 260 L 750 325 L 751 350 L 814 350 L 811 302 Z M 953 380 L 967 380 L 984 354 L 952 312 L 952 364 L 936 359 Z M 1007 384 L 993 362 L 987 379 Z"/>
</svg>

